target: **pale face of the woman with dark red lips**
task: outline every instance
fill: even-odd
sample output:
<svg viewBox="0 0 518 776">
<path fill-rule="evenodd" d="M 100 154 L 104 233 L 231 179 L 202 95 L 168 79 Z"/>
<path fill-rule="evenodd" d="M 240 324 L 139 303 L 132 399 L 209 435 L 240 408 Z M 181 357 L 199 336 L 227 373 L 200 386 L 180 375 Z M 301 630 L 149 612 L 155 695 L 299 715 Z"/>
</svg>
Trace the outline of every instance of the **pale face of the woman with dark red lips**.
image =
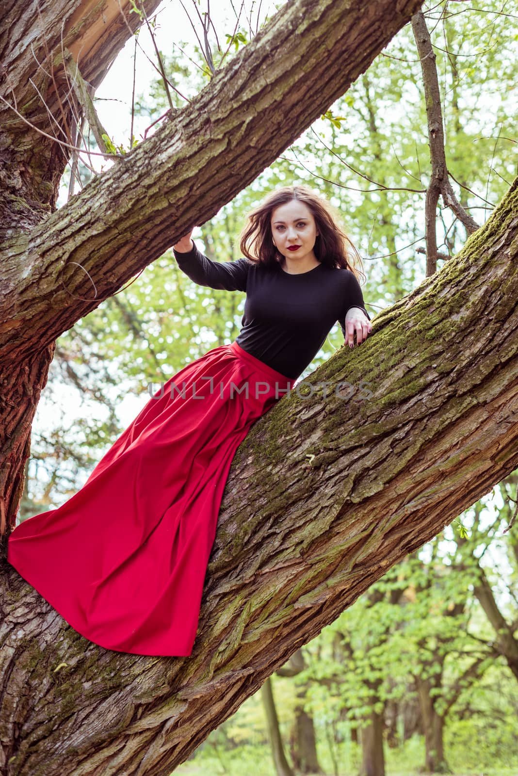
<svg viewBox="0 0 518 776">
<path fill-rule="evenodd" d="M 270 225 L 274 244 L 282 256 L 297 261 L 308 256 L 316 259 L 313 248 L 319 233 L 313 213 L 305 203 L 292 199 L 279 205 L 271 211 Z"/>
</svg>

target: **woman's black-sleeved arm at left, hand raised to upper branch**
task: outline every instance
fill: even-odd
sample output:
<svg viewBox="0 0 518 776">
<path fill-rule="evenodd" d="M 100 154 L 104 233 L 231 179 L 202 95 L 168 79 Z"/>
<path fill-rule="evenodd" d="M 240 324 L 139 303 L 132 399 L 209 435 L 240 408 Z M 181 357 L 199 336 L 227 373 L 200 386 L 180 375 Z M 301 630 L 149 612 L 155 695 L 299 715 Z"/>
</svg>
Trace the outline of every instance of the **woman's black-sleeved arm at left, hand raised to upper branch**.
<svg viewBox="0 0 518 776">
<path fill-rule="evenodd" d="M 226 291 L 247 290 L 248 270 L 251 266 L 247 258 L 238 258 L 235 262 L 212 262 L 199 251 L 191 237 L 182 237 L 173 246 L 173 252 L 181 271 L 199 286 Z"/>
</svg>

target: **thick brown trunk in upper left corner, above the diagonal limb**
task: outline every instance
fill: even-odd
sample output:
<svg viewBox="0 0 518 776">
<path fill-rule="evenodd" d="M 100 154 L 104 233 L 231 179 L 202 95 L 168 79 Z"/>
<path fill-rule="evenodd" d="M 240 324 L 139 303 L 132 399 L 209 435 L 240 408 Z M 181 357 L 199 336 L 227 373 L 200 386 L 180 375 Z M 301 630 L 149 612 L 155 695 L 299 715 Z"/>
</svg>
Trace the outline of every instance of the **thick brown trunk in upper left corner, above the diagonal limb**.
<svg viewBox="0 0 518 776">
<path fill-rule="evenodd" d="M 159 2 L 140 0 L 139 5 L 150 14 Z M 70 52 L 83 78 L 97 88 L 140 26 L 138 14 L 131 10 L 131 0 L 53 0 L 36 6 L 29 0 L 2 0 L 2 239 L 32 229 L 56 209 L 60 177 L 71 151 L 53 138 L 74 145 L 77 120 L 83 115 L 63 68 L 64 52 Z M 33 251 L 28 258 L 36 259 Z M 25 276 L 17 278 L 19 291 Z"/>
</svg>

